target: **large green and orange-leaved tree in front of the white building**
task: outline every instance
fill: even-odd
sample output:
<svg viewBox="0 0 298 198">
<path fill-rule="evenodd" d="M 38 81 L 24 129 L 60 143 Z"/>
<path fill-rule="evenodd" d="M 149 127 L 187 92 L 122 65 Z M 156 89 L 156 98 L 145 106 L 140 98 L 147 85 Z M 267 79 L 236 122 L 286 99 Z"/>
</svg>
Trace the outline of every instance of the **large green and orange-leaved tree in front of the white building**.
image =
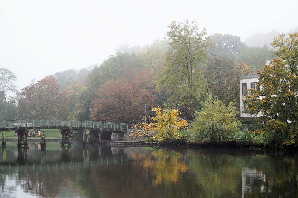
<svg viewBox="0 0 298 198">
<path fill-rule="evenodd" d="M 258 72 L 263 89 L 247 90 L 243 101 L 247 112 L 262 113 L 260 121 L 267 121 L 256 133 L 269 136 L 271 143 L 298 146 L 298 33 L 281 34 L 272 46 L 277 59 Z"/>
</svg>

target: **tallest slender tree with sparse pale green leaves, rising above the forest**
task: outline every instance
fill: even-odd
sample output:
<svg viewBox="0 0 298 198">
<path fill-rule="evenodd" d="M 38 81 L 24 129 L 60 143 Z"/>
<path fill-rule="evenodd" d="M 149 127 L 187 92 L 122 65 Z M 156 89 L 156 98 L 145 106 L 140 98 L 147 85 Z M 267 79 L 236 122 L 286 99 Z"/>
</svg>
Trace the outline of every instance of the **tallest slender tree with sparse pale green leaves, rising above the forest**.
<svg viewBox="0 0 298 198">
<path fill-rule="evenodd" d="M 211 45 L 206 30 L 199 32 L 195 21 L 186 20 L 178 24 L 172 21 L 169 28 L 167 38 L 170 40 L 170 48 L 163 71 L 157 78 L 157 88 L 166 86 L 168 91 L 172 92 L 170 103 L 174 103 L 181 96 L 189 98 L 193 120 L 194 103 L 201 88 L 199 64 L 205 62 L 207 48 Z"/>
</svg>

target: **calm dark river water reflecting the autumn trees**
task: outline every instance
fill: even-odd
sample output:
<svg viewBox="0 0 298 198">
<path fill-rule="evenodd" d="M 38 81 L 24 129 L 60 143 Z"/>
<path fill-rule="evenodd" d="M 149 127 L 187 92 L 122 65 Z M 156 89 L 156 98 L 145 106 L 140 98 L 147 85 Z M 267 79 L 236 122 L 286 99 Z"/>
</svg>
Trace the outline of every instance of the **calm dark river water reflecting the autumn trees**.
<svg viewBox="0 0 298 198">
<path fill-rule="evenodd" d="M 7 142 L 0 197 L 298 197 L 298 155 Z"/>
</svg>

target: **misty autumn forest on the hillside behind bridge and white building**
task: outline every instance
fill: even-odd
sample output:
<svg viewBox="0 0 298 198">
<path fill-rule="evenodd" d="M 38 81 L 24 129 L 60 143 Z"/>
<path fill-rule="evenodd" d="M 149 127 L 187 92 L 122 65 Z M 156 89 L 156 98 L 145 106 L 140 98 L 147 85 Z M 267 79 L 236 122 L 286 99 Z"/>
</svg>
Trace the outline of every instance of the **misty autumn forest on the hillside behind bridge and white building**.
<svg viewBox="0 0 298 198">
<path fill-rule="evenodd" d="M 169 28 L 166 39 L 142 47 L 121 45 L 101 65 L 32 81 L 15 97 L 8 93 L 17 92 L 16 76 L 1 68 L 0 120 L 135 123 L 145 114 L 145 106 L 148 117 L 151 107 L 167 106 L 193 120 L 193 112 L 201 108 L 208 92 L 225 104 L 235 101 L 239 109 L 239 79 L 274 59 L 274 50 L 266 45 L 249 47 L 232 34 L 208 35 L 195 21 L 173 21 Z M 193 40 L 183 40 L 187 37 Z"/>
</svg>

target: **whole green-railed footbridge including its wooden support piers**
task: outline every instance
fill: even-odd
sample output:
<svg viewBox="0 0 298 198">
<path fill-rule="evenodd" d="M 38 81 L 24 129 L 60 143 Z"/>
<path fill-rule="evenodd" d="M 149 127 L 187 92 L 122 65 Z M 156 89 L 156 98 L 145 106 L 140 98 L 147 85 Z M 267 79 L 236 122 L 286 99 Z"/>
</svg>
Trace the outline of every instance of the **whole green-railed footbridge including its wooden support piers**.
<svg viewBox="0 0 298 198">
<path fill-rule="evenodd" d="M 0 131 L 2 133 L 2 145 L 6 144 L 5 134 L 7 130 L 16 130 L 18 134 L 18 146 L 27 146 L 27 134 L 30 129 L 60 129 L 62 140 L 61 144 L 72 144 L 71 136 L 73 130 L 84 130 L 83 143 L 100 142 L 102 138 L 111 139 L 112 133 L 127 132 L 127 123 L 115 122 L 93 122 L 78 120 L 10 120 L 0 121 Z M 41 143 L 45 142 L 45 134 L 41 135 Z"/>
</svg>

